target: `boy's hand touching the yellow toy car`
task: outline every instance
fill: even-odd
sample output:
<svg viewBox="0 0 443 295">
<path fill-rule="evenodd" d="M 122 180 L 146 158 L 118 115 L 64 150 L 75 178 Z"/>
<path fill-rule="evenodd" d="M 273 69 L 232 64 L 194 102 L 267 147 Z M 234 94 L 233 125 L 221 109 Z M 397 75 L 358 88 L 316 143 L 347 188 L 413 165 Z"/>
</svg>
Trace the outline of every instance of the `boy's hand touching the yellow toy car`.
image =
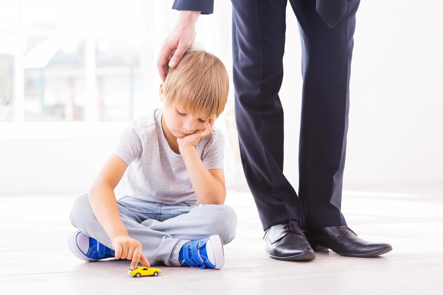
<svg viewBox="0 0 443 295">
<path fill-rule="evenodd" d="M 140 261 L 143 266 L 149 267 L 149 261 L 141 252 L 141 243 L 127 235 L 113 238 L 112 246 L 115 249 L 115 258 L 131 261 L 131 269 L 136 269 Z"/>
</svg>

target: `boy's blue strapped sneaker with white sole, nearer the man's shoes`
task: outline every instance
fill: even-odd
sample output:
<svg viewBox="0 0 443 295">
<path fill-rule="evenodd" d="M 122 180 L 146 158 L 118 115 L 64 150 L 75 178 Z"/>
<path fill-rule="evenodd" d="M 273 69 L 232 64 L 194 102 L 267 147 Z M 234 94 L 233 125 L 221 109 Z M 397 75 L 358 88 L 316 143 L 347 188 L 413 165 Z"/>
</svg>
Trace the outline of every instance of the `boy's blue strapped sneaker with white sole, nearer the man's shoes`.
<svg viewBox="0 0 443 295">
<path fill-rule="evenodd" d="M 183 266 L 219 269 L 225 265 L 225 253 L 218 234 L 202 240 L 187 242 L 180 249 Z"/>
</svg>

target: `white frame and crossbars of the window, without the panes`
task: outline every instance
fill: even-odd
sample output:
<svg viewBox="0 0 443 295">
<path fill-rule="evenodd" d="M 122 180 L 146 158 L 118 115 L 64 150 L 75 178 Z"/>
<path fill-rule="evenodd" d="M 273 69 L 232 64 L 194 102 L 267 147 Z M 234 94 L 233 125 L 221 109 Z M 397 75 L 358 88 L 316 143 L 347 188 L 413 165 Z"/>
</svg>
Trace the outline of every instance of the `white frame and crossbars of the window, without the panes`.
<svg viewBox="0 0 443 295">
<path fill-rule="evenodd" d="M 93 30 L 93 4 L 89 2 L 88 13 L 90 15 L 89 30 L 87 32 L 71 32 L 64 30 L 43 30 L 23 28 L 23 1 L 19 0 L 19 27 L 18 29 L 0 29 L 0 35 L 12 35 L 16 38 L 14 54 L 14 119 L 11 121 L 0 121 L 0 138 L 78 138 L 78 137 L 114 137 L 116 130 L 122 130 L 128 121 L 99 121 L 97 120 L 96 96 L 96 40 L 114 39 L 124 41 L 128 38 L 128 33 L 124 32 L 103 32 Z M 161 3 L 150 4 L 155 11 L 156 8 L 163 8 Z M 161 19 L 161 13 L 154 13 L 156 21 Z M 23 57 L 28 37 L 56 37 L 75 36 L 85 39 L 85 80 L 87 103 L 85 119 L 82 121 L 26 121 L 24 119 L 24 69 Z M 151 32 L 134 30 L 129 36 L 140 39 L 140 42 L 149 41 L 153 46 L 159 48 L 161 42 L 159 36 L 153 36 Z M 154 58 L 154 57 L 152 57 Z M 99 70 L 100 71 L 100 70 Z"/>
</svg>

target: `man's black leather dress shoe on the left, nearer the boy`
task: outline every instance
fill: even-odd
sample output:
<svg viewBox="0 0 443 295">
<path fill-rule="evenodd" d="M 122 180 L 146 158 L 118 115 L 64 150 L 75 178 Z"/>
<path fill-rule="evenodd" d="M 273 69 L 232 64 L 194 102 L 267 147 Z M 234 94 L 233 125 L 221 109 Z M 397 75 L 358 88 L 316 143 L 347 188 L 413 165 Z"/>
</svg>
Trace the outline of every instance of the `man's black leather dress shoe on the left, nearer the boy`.
<svg viewBox="0 0 443 295">
<path fill-rule="evenodd" d="M 315 259 L 315 252 L 297 220 L 290 219 L 269 227 L 263 239 L 266 243 L 265 249 L 271 258 L 288 261 Z"/>
</svg>

